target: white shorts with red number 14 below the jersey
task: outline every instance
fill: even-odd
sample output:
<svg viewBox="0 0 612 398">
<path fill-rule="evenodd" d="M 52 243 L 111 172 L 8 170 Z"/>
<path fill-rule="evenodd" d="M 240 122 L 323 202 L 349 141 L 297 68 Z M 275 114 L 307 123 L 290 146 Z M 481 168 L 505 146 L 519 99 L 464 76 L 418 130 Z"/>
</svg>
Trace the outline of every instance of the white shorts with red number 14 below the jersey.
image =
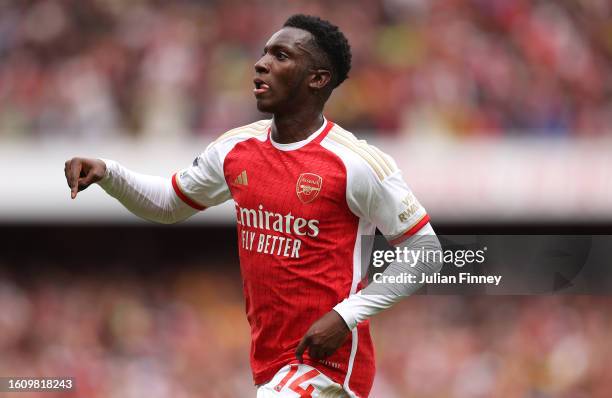
<svg viewBox="0 0 612 398">
<path fill-rule="evenodd" d="M 347 398 L 342 386 L 312 366 L 292 364 L 257 388 L 257 398 Z"/>
</svg>

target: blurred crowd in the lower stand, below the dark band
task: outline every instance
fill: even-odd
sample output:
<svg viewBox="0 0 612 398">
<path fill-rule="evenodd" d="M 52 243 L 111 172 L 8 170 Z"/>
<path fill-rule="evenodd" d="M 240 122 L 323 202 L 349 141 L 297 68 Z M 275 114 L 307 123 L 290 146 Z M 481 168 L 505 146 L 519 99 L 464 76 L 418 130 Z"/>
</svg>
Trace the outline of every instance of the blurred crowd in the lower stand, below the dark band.
<svg viewBox="0 0 612 398">
<path fill-rule="evenodd" d="M 238 275 L 5 276 L 0 308 L 2 376 L 75 378 L 72 393 L 45 397 L 255 395 Z M 410 297 L 373 319 L 372 397 L 609 397 L 610 308 L 595 296 Z"/>
</svg>

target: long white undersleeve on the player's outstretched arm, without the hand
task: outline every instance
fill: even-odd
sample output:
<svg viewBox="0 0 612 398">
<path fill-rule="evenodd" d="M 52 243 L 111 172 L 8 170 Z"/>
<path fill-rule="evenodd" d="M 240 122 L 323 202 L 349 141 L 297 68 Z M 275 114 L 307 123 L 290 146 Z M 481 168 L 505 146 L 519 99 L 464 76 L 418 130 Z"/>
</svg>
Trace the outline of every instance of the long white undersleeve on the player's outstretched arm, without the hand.
<svg viewBox="0 0 612 398">
<path fill-rule="evenodd" d="M 113 160 L 102 160 L 106 173 L 98 184 L 138 217 L 173 224 L 197 213 L 176 195 L 169 178 L 134 173 Z"/>
</svg>

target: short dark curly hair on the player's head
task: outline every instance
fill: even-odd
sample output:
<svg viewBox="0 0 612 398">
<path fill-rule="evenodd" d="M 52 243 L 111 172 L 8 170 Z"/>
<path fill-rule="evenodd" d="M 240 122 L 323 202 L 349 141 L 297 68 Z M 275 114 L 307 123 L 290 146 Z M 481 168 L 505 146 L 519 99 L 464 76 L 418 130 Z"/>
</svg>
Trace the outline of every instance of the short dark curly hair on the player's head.
<svg viewBox="0 0 612 398">
<path fill-rule="evenodd" d="M 336 25 L 319 17 L 295 14 L 289 17 L 283 27 L 298 28 L 310 32 L 315 44 L 329 58 L 334 73 L 334 88 L 348 78 L 351 69 L 351 46 Z"/>
</svg>

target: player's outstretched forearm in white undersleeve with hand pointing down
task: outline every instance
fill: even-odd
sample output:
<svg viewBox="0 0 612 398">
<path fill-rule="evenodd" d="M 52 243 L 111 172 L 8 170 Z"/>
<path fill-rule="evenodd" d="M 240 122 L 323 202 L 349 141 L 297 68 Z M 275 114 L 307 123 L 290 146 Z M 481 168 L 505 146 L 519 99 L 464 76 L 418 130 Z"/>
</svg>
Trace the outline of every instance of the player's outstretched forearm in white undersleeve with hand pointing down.
<svg viewBox="0 0 612 398">
<path fill-rule="evenodd" d="M 135 215 L 164 224 L 183 221 L 197 213 L 176 195 L 170 179 L 134 173 L 112 160 L 72 158 L 64 172 L 74 199 L 98 183 Z"/>
</svg>

